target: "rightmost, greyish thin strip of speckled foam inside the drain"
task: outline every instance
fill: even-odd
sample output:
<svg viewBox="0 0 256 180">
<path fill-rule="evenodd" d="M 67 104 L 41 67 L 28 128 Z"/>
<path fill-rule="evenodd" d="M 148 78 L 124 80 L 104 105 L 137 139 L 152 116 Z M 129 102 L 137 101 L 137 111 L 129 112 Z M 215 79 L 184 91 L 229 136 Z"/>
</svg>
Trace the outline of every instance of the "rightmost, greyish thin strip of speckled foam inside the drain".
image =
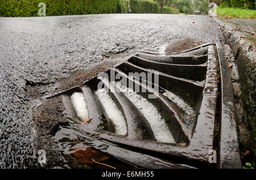
<svg viewBox="0 0 256 180">
<path fill-rule="evenodd" d="M 174 93 L 170 91 L 166 91 L 163 93 L 164 96 L 170 98 L 170 100 L 174 101 L 174 103 L 179 106 L 187 115 L 195 115 L 195 110 L 191 108 L 185 101 L 180 98 L 179 96 L 175 95 Z"/>
</svg>

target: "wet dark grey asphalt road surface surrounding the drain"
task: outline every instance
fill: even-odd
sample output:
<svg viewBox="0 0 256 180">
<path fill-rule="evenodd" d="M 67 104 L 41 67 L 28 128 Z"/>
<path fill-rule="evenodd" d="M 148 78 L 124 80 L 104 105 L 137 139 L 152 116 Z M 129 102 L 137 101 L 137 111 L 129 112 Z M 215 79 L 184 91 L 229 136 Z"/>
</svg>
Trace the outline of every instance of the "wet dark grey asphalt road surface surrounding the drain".
<svg viewBox="0 0 256 180">
<path fill-rule="evenodd" d="M 217 26 L 208 16 L 188 15 L 0 18 L 0 168 L 25 168 L 36 160 L 26 83 L 55 83 L 109 52 L 158 49 L 187 38 L 219 41 Z"/>
</svg>

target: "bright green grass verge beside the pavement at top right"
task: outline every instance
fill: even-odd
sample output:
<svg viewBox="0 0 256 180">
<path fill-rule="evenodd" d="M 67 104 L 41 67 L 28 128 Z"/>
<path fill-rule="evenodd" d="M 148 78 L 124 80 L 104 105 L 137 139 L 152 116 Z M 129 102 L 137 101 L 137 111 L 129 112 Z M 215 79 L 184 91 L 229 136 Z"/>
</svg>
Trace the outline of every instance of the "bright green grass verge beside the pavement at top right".
<svg viewBox="0 0 256 180">
<path fill-rule="evenodd" d="M 217 14 L 222 18 L 255 18 L 256 10 L 244 10 L 242 8 L 217 8 Z"/>
</svg>

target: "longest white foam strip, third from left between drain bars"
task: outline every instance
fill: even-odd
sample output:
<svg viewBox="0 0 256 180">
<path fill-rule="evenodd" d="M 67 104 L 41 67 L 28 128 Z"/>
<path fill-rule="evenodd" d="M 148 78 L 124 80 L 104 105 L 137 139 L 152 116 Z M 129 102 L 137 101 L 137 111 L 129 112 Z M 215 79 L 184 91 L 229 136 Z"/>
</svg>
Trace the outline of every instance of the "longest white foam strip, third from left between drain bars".
<svg viewBox="0 0 256 180">
<path fill-rule="evenodd" d="M 158 110 L 146 98 L 138 95 L 131 89 L 123 86 L 120 82 L 116 83 L 121 92 L 129 98 L 131 102 L 141 111 L 147 119 L 154 133 L 155 139 L 163 143 L 175 143 L 175 140 Z"/>
</svg>

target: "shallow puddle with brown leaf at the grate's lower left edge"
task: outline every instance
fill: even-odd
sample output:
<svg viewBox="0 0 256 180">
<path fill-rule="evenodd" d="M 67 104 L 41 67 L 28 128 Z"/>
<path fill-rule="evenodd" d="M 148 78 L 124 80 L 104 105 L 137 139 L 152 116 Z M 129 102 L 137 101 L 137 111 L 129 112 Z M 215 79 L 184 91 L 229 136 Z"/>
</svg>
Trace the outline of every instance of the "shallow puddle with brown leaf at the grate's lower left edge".
<svg viewBox="0 0 256 180">
<path fill-rule="evenodd" d="M 138 166 L 110 155 L 106 152 L 108 145 L 81 134 L 75 130 L 75 127 L 61 126 L 60 130 L 56 132 L 54 140 L 56 151 L 61 152 L 65 158 L 65 161 L 59 164 L 61 168 L 138 168 Z"/>
</svg>

